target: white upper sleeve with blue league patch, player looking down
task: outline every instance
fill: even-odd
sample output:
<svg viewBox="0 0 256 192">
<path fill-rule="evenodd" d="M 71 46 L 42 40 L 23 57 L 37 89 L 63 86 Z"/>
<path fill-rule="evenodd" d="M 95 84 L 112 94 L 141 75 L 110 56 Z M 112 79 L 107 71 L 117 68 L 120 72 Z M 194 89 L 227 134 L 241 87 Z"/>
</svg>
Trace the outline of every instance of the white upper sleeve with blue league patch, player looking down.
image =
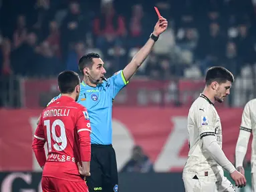
<svg viewBox="0 0 256 192">
<path fill-rule="evenodd" d="M 199 127 L 200 139 L 208 135 L 215 136 L 215 114 L 212 109 L 198 107 L 195 109 L 195 121 Z"/>
</svg>

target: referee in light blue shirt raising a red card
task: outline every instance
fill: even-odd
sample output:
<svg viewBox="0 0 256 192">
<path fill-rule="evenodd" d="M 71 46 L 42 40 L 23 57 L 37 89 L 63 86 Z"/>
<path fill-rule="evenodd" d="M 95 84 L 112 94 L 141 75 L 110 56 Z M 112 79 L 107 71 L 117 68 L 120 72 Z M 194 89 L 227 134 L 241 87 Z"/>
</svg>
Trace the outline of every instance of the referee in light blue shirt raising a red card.
<svg viewBox="0 0 256 192">
<path fill-rule="evenodd" d="M 112 147 L 112 101 L 142 65 L 159 35 L 166 30 L 167 26 L 166 19 L 160 17 L 144 47 L 136 53 L 124 70 L 115 73 L 109 79 L 104 77 L 106 70 L 100 55 L 90 53 L 84 55 L 79 61 L 79 69 L 84 78 L 80 86 L 78 103 L 88 109 L 92 128 L 91 176 L 86 177 L 90 192 L 118 191 L 116 153 Z M 51 101 L 56 99 L 58 97 Z"/>
</svg>

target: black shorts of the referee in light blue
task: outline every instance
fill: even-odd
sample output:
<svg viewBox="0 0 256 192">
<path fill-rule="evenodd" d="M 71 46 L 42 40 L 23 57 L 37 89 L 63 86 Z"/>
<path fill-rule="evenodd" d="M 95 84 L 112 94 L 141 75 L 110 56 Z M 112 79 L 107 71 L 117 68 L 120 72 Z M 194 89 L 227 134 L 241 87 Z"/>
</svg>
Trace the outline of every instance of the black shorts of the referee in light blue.
<svg viewBox="0 0 256 192">
<path fill-rule="evenodd" d="M 86 177 L 90 192 L 118 191 L 116 153 L 112 145 L 92 144 L 90 173 L 91 176 Z"/>
</svg>

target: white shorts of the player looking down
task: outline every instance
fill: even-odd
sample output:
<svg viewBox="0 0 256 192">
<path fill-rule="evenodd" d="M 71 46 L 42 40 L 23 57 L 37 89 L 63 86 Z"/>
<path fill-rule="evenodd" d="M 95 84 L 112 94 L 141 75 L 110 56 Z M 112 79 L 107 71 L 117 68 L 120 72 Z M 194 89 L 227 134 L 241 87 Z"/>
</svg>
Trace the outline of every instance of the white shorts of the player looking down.
<svg viewBox="0 0 256 192">
<path fill-rule="evenodd" d="M 235 187 L 227 179 L 222 177 L 221 181 L 213 181 L 210 177 L 193 179 L 195 174 L 183 173 L 183 182 L 186 192 L 235 192 Z"/>
</svg>

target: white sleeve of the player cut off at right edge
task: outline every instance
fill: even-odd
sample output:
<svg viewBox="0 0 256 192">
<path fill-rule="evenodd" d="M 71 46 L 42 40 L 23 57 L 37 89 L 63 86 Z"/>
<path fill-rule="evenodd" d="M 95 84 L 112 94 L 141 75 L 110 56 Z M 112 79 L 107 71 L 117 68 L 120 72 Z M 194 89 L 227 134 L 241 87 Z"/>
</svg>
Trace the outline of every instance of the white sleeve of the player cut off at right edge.
<svg viewBox="0 0 256 192">
<path fill-rule="evenodd" d="M 243 109 L 242 121 L 239 131 L 239 137 L 237 139 L 237 145 L 235 147 L 235 166 L 243 167 L 243 159 L 245 159 L 249 139 L 251 136 L 251 115 L 250 115 L 250 101 L 245 105 Z"/>
</svg>

